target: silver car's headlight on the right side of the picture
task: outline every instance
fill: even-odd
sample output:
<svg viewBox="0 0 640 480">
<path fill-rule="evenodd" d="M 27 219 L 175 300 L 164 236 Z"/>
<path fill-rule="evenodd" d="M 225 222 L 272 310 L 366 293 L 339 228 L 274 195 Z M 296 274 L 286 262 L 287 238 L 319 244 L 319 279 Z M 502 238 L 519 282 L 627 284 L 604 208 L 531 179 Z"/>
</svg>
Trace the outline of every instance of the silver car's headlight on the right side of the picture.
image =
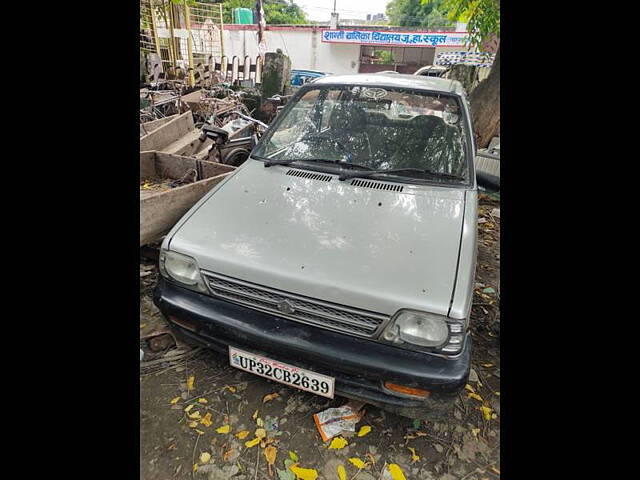
<svg viewBox="0 0 640 480">
<path fill-rule="evenodd" d="M 396 344 L 440 347 L 449 340 L 449 326 L 441 315 L 401 310 L 382 333 L 382 339 Z"/>
</svg>

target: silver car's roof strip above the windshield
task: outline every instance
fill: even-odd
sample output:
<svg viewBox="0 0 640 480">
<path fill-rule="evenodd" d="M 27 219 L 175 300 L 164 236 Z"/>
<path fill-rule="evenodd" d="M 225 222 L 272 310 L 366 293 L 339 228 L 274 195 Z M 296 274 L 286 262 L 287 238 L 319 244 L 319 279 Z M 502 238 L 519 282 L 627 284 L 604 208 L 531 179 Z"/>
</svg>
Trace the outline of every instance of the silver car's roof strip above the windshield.
<svg viewBox="0 0 640 480">
<path fill-rule="evenodd" d="M 359 73 L 357 75 L 331 75 L 313 82 L 313 85 L 367 85 L 378 87 L 413 88 L 443 93 L 464 94 L 462 84 L 457 80 L 440 77 L 425 77 L 404 73 Z"/>
</svg>

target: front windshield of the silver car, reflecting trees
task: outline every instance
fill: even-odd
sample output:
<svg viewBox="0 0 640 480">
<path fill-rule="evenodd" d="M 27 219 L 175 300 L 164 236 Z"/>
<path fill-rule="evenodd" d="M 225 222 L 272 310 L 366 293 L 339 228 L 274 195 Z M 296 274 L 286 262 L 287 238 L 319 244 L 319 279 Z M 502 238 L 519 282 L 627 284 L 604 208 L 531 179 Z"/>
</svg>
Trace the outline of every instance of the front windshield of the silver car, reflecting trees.
<svg viewBox="0 0 640 480">
<path fill-rule="evenodd" d="M 281 115 L 254 156 L 277 162 L 344 162 L 374 170 L 428 170 L 429 181 L 468 182 L 467 139 L 456 97 L 327 85 L 306 90 Z M 324 162 L 318 165 L 331 168 Z M 417 170 L 382 175 L 425 180 Z"/>
</svg>

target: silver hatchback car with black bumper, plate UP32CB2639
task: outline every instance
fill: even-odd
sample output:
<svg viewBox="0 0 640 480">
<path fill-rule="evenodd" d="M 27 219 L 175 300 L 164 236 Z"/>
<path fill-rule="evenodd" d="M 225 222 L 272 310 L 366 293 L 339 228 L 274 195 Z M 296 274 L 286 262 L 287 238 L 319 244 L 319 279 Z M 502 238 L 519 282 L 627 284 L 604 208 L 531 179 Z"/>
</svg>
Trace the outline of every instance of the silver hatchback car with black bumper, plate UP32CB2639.
<svg viewBox="0 0 640 480">
<path fill-rule="evenodd" d="M 441 418 L 470 369 L 474 154 L 457 81 L 303 85 L 166 236 L 154 301 L 236 368 Z"/>
</svg>

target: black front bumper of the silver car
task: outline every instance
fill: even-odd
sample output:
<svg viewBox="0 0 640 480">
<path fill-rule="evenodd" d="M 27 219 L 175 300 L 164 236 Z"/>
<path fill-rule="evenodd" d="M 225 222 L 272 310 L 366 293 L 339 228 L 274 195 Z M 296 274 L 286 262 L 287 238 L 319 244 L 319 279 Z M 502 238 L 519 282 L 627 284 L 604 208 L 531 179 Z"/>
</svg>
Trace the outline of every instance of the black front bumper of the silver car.
<svg viewBox="0 0 640 480">
<path fill-rule="evenodd" d="M 165 317 L 194 323 L 196 332 L 169 320 L 179 335 L 221 353 L 228 346 L 335 377 L 338 395 L 411 418 L 441 418 L 464 388 L 471 338 L 456 358 L 411 352 L 305 325 L 202 295 L 160 279 L 154 303 Z M 390 393 L 383 381 L 429 390 L 427 399 Z"/>
</svg>

